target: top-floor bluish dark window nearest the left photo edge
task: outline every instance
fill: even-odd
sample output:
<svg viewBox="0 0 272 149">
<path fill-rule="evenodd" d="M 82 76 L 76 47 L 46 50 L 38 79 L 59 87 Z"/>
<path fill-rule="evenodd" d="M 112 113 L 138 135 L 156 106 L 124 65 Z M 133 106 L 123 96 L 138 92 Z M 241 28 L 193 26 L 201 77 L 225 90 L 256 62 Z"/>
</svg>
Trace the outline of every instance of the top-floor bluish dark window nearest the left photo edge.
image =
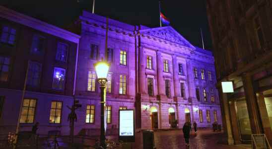
<svg viewBox="0 0 272 149">
<path fill-rule="evenodd" d="M 16 36 L 16 30 L 9 26 L 3 26 L 0 41 L 7 44 L 14 44 Z"/>
</svg>

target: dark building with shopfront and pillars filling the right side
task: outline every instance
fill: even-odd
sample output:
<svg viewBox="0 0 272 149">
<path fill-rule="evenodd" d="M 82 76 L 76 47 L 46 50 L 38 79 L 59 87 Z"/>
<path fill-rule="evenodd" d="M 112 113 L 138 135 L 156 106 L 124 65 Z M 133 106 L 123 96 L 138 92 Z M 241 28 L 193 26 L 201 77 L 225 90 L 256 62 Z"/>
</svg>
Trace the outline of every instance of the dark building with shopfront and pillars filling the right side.
<svg viewBox="0 0 272 149">
<path fill-rule="evenodd" d="M 206 0 L 226 141 L 272 143 L 272 0 Z M 222 93 L 230 80 L 234 93 Z"/>
</svg>

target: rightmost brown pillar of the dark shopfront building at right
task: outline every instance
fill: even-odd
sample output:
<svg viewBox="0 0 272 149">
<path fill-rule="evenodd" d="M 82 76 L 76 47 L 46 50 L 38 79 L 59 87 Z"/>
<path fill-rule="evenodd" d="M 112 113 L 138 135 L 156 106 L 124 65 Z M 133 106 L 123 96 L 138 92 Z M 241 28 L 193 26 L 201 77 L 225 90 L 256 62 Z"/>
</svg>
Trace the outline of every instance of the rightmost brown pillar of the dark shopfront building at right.
<svg viewBox="0 0 272 149">
<path fill-rule="evenodd" d="M 267 111 L 265 97 L 264 97 L 263 92 L 257 94 L 257 99 L 258 99 L 258 107 L 260 109 L 262 124 L 264 127 L 264 133 L 266 134 L 267 139 L 269 140 L 270 144 L 272 145 L 272 131 L 270 128 L 271 126 L 270 126 L 268 111 Z"/>
</svg>

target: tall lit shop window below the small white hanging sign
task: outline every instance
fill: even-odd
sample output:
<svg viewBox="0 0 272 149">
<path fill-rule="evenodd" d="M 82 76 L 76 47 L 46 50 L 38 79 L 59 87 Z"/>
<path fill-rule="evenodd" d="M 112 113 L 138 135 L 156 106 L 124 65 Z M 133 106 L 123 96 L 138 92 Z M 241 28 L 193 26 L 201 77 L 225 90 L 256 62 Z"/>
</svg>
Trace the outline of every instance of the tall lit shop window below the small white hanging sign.
<svg viewBox="0 0 272 149">
<path fill-rule="evenodd" d="M 235 101 L 241 140 L 251 140 L 251 127 L 245 98 Z"/>
</svg>

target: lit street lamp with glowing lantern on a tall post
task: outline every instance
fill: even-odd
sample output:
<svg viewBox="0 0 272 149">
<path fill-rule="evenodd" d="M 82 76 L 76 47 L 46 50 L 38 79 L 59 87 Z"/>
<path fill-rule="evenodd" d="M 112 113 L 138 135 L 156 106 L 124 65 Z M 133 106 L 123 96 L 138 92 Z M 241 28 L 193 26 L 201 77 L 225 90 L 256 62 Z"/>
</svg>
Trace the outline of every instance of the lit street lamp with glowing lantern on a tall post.
<svg viewBox="0 0 272 149">
<path fill-rule="evenodd" d="M 104 106 L 106 103 L 106 82 L 107 82 L 107 75 L 109 71 L 110 65 L 105 61 L 99 61 L 94 64 L 95 72 L 97 74 L 97 79 L 100 84 L 100 91 L 101 91 L 101 97 L 100 97 L 100 144 L 103 147 L 103 149 L 106 149 L 106 143 L 105 143 L 105 126 L 104 126 Z"/>
</svg>

